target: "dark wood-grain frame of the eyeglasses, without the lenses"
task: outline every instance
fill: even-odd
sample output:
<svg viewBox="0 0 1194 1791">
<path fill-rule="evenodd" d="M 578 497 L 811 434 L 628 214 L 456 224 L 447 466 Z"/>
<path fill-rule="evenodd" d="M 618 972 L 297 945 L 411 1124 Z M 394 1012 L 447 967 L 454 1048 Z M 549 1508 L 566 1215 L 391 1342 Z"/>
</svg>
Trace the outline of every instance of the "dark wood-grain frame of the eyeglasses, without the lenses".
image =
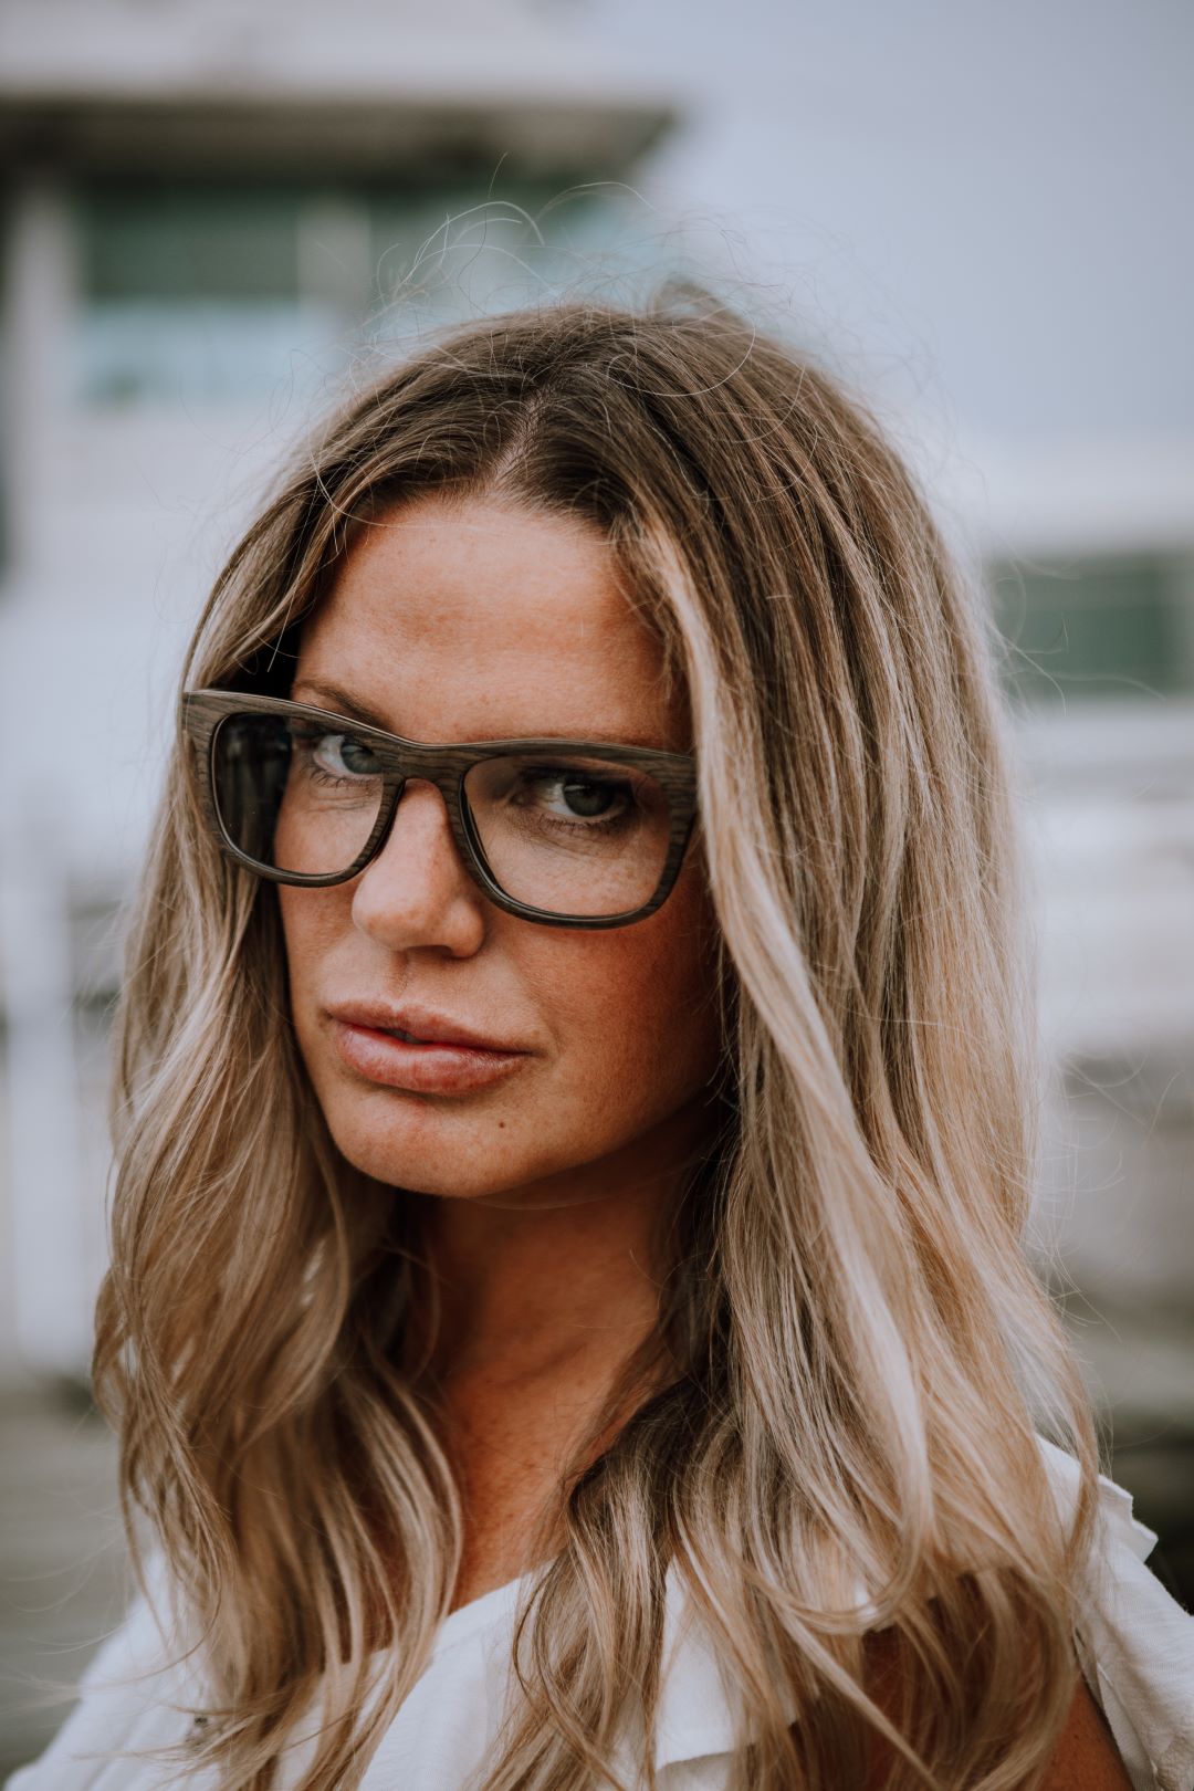
<svg viewBox="0 0 1194 1791">
<path fill-rule="evenodd" d="M 419 777 L 435 784 L 442 795 L 444 808 L 448 810 L 448 822 L 451 826 L 451 835 L 460 858 L 473 881 L 498 908 L 503 908 L 507 913 L 519 915 L 523 921 L 535 921 L 542 926 L 630 926 L 634 921 L 644 921 L 648 913 L 655 913 L 655 910 L 671 894 L 671 887 L 680 872 L 680 865 L 684 863 L 684 853 L 693 833 L 693 822 L 696 820 L 696 761 L 687 752 L 662 752 L 657 747 L 625 747 L 605 740 L 560 740 L 553 736 L 535 740 L 474 740 L 460 741 L 458 745 L 426 745 L 419 740 L 405 740 L 401 734 L 390 734 L 381 727 L 369 725 L 367 722 L 358 722 L 349 715 L 338 715 L 335 709 L 319 709 L 313 704 L 290 702 L 285 697 L 258 697 L 233 690 L 188 690 L 183 691 L 181 704 L 183 727 L 192 749 L 192 770 L 195 774 L 195 790 L 202 806 L 204 820 L 215 842 L 224 853 L 227 853 L 229 858 L 233 858 L 238 865 L 243 865 L 245 870 L 252 870 L 256 876 L 267 878 L 270 883 L 326 888 L 333 883 L 349 883 L 354 876 L 360 876 L 360 872 L 378 856 L 390 835 L 394 815 L 397 813 L 397 799 L 403 793 L 405 783 L 410 777 Z M 378 806 L 378 818 L 369 840 L 347 870 L 317 876 L 297 870 L 276 870 L 272 865 L 249 858 L 227 835 L 215 795 L 215 745 L 222 722 L 226 722 L 231 715 L 283 715 L 304 722 L 335 724 L 337 733 L 349 733 L 353 740 L 360 740 L 378 754 L 381 763 L 381 802 Z M 329 733 L 331 731 L 333 727 L 329 725 Z M 641 770 L 661 784 L 668 799 L 668 854 L 650 901 L 644 901 L 641 908 L 630 908 L 625 913 L 575 915 L 557 913 L 550 908 L 533 908 L 528 903 L 516 901 L 514 896 L 507 896 L 485 860 L 485 851 L 469 811 L 464 779 L 474 765 L 480 765 L 485 759 L 499 759 L 521 752 L 567 752 L 582 754 L 585 758 L 600 758 L 610 765 L 628 765 L 632 770 Z"/>
</svg>

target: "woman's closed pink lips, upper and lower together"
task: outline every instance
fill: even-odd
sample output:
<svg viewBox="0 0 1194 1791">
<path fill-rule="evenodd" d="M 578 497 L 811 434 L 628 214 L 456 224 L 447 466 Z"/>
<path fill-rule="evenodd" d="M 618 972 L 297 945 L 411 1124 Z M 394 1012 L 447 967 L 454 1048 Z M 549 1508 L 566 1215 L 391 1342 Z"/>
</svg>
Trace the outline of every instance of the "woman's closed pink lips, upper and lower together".
<svg viewBox="0 0 1194 1791">
<path fill-rule="evenodd" d="M 345 1003 L 328 1010 L 340 1058 L 383 1087 L 410 1094 L 471 1094 L 501 1082 L 528 1051 L 483 1039 L 471 1026 L 428 1008 Z M 414 1041 L 396 1039 L 399 1028 Z"/>
</svg>

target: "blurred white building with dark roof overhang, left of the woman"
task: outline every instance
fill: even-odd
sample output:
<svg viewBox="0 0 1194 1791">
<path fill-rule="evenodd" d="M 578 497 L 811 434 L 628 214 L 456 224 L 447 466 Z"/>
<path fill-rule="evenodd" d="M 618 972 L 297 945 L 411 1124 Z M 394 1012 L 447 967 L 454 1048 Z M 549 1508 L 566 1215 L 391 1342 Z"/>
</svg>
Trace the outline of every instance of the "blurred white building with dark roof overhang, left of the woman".
<svg viewBox="0 0 1194 1791">
<path fill-rule="evenodd" d="M 523 0 L 4 9 L 0 1377 L 88 1359 L 113 904 L 238 523 L 394 337 L 593 269 L 668 124 Z"/>
</svg>

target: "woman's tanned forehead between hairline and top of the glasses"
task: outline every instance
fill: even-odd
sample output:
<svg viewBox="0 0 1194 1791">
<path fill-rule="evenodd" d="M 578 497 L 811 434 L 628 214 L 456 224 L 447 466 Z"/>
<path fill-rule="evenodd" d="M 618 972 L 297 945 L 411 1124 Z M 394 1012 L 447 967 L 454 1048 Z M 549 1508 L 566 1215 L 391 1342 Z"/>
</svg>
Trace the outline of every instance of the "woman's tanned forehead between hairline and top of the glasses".
<svg viewBox="0 0 1194 1791">
<path fill-rule="evenodd" d="M 337 684 L 415 740 L 557 734 L 687 747 L 662 648 L 591 525 L 421 498 L 365 525 L 303 627 L 294 693 Z"/>
</svg>

